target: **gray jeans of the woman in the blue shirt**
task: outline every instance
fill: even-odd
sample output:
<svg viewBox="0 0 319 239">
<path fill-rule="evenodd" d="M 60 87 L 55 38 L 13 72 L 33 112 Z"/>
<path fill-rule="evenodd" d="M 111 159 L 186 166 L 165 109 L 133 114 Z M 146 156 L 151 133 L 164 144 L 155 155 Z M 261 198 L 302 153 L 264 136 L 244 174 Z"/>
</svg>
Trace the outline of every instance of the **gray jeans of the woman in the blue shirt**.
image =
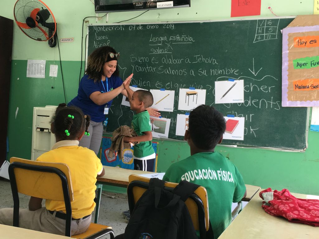
<svg viewBox="0 0 319 239">
<path fill-rule="evenodd" d="M 84 135 L 79 143 L 79 146 L 89 148 L 93 150 L 96 155 L 98 155 L 103 135 L 103 124 L 102 122 L 94 122 L 90 120 L 90 126 L 87 130 L 89 131 L 90 135 Z"/>
</svg>

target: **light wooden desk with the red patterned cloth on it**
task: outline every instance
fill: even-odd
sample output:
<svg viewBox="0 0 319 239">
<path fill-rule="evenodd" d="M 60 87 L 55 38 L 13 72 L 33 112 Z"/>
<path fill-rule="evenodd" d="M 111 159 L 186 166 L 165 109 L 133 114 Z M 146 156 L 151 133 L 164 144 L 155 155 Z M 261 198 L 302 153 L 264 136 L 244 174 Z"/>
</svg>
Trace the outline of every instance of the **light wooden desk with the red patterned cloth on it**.
<svg viewBox="0 0 319 239">
<path fill-rule="evenodd" d="M 286 218 L 275 217 L 266 213 L 261 207 L 263 199 L 259 197 L 259 191 L 219 236 L 219 239 L 319 238 L 318 227 L 288 222 Z M 292 194 L 297 198 L 306 198 L 305 194 Z"/>
</svg>

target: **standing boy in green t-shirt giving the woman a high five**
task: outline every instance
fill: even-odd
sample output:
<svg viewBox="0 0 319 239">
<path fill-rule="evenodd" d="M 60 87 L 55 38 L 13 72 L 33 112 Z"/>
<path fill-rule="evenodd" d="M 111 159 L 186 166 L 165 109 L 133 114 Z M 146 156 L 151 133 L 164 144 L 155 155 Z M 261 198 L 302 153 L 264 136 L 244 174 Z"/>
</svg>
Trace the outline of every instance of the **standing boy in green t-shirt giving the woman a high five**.
<svg viewBox="0 0 319 239">
<path fill-rule="evenodd" d="M 150 115 L 145 108 L 153 104 L 153 96 L 149 91 L 137 90 L 131 94 L 129 85 L 123 84 L 130 100 L 131 110 L 135 111 L 131 127 L 136 132 L 136 137 L 124 137 L 124 142 L 139 142 L 134 145 L 133 159 L 134 169 L 143 171 L 154 171 L 156 154 L 152 147 L 152 132 Z"/>
</svg>

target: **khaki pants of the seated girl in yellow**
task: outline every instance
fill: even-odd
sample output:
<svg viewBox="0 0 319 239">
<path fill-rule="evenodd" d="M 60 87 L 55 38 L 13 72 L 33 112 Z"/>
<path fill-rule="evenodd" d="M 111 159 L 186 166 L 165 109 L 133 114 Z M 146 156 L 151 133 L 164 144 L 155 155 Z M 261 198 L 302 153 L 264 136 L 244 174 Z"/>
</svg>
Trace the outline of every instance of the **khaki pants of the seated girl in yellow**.
<svg viewBox="0 0 319 239">
<path fill-rule="evenodd" d="M 89 228 L 92 216 L 71 221 L 71 235 L 81 234 Z M 13 208 L 0 209 L 0 224 L 13 225 Z M 56 212 L 50 214 L 42 207 L 36 211 L 20 208 L 19 227 L 35 231 L 65 235 L 65 220 L 56 217 Z"/>
</svg>

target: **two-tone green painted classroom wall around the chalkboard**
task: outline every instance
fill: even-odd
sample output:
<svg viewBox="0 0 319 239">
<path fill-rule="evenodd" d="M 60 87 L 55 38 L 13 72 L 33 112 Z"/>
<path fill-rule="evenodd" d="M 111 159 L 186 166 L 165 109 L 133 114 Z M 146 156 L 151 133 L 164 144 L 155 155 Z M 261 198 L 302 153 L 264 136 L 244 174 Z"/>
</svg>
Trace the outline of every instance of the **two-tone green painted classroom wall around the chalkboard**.
<svg viewBox="0 0 319 239">
<path fill-rule="evenodd" d="M 13 18 L 16 0 L 1 2 L 0 16 Z M 67 101 L 77 93 L 81 66 L 81 31 L 83 18 L 95 16 L 90 0 L 44 0 L 55 15 L 58 23 L 58 36 L 74 37 L 73 43 L 61 43 L 61 60 Z M 312 0 L 263 0 L 260 17 L 273 17 L 270 6 L 278 16 L 294 16 L 313 13 Z M 128 21 L 195 21 L 230 19 L 231 1 L 192 0 L 190 8 L 163 9 L 148 11 L 142 16 Z M 102 19 L 87 18 L 86 26 L 93 23 L 115 23 L 134 18 L 142 11 L 110 13 Z M 99 14 L 103 16 L 104 14 Z M 255 16 L 256 17 L 256 16 Z M 254 16 L 250 18 L 255 18 Z M 96 21 L 97 20 L 97 21 Z M 47 42 L 38 42 L 26 37 L 14 25 L 12 53 L 12 73 L 9 110 L 9 147 L 11 156 L 30 158 L 32 112 L 34 106 L 57 105 L 64 101 L 61 67 L 58 47 L 50 48 Z M 132 41 L 132 40 L 130 40 Z M 83 44 L 84 47 L 84 44 Z M 84 57 L 84 52 L 82 57 Z M 46 78 L 26 78 L 28 59 L 47 61 Z M 58 77 L 49 77 L 49 65 L 58 65 Z M 53 88 L 52 88 L 53 87 Z M 17 107 L 19 110 L 16 115 Z M 282 152 L 267 149 L 228 148 L 219 146 L 217 151 L 228 156 L 241 171 L 246 184 L 272 187 L 292 192 L 319 195 L 319 133 L 309 133 L 309 147 L 305 153 Z M 159 141 L 158 171 L 164 172 L 171 163 L 189 156 L 185 142 Z M 121 191 L 118 188 L 109 188 Z"/>
</svg>

